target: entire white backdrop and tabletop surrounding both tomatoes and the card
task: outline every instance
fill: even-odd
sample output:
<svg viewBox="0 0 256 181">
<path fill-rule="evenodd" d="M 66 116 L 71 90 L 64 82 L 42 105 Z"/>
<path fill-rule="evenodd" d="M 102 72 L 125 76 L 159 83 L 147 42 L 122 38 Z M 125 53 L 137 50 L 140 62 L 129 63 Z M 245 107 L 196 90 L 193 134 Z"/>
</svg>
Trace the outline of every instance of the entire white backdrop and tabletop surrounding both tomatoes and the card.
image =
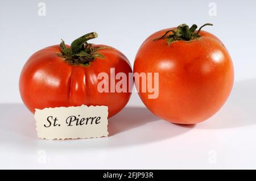
<svg viewBox="0 0 256 181">
<path fill-rule="evenodd" d="M 39 2 L 46 3 L 46 16 L 38 15 Z M 211 2 L 216 16 L 209 14 Z M 255 6 L 255 1 L 1 1 L 0 168 L 256 169 Z M 36 138 L 18 90 L 20 70 L 32 53 L 96 31 L 92 43 L 121 50 L 133 65 L 146 37 L 181 23 L 213 23 L 204 30 L 218 36 L 233 58 L 236 82 L 220 112 L 181 127 L 152 115 L 134 94 L 110 119 L 109 138 Z"/>
</svg>

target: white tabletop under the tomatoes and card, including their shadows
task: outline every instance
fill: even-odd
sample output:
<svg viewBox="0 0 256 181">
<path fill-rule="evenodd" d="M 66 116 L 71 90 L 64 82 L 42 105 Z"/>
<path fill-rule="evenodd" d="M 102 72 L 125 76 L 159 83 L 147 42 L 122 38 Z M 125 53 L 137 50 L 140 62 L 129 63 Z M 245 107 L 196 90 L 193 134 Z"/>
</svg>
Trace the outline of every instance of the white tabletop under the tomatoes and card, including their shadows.
<svg viewBox="0 0 256 181">
<path fill-rule="evenodd" d="M 0 169 L 256 169 L 256 79 L 195 126 L 152 115 L 136 94 L 109 120 L 108 138 L 48 141 L 22 104 L 0 106 Z"/>
</svg>

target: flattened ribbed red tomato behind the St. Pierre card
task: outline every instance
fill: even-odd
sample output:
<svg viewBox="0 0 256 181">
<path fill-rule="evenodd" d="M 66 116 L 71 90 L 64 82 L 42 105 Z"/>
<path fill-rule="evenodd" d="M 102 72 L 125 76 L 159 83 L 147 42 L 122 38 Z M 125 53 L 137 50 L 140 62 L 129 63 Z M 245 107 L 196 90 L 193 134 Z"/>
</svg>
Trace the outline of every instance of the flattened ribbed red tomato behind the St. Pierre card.
<svg viewBox="0 0 256 181">
<path fill-rule="evenodd" d="M 124 54 L 106 45 L 88 44 L 97 37 L 88 33 L 66 46 L 53 45 L 34 53 L 20 74 L 20 95 L 27 108 L 81 106 L 108 106 L 109 117 L 121 111 L 128 102 L 131 91 L 100 92 L 97 85 L 99 73 L 110 77 L 115 73 L 132 73 L 131 65 Z M 104 80 L 106 81 L 106 80 Z M 118 80 L 114 80 L 117 83 Z M 127 81 L 128 83 L 129 81 Z M 107 82 L 110 85 L 110 81 Z M 132 86 L 127 86 L 132 89 Z"/>
</svg>

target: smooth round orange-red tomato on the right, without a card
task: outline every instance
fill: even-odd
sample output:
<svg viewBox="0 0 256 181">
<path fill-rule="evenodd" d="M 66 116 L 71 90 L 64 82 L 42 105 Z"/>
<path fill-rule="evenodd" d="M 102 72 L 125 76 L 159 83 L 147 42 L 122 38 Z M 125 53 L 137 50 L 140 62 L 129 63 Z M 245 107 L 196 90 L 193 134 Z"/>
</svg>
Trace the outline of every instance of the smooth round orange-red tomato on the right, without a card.
<svg viewBox="0 0 256 181">
<path fill-rule="evenodd" d="M 171 123 L 207 120 L 232 90 L 234 70 L 228 50 L 216 36 L 196 28 L 181 24 L 155 32 L 135 57 L 134 73 L 159 73 L 158 98 L 149 99 L 148 90 L 138 90 L 142 81 L 135 82 L 140 98 L 151 112 Z"/>
</svg>

